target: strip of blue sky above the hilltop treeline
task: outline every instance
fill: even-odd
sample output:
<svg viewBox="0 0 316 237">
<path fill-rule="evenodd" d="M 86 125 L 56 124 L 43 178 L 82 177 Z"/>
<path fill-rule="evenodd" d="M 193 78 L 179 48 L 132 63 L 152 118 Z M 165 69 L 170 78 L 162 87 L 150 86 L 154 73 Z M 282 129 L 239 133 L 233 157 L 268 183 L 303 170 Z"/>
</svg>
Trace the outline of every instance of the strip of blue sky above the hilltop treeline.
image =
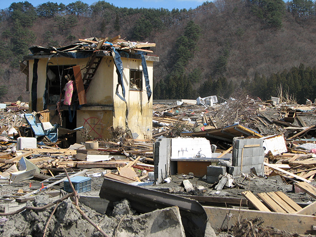
<svg viewBox="0 0 316 237">
<path fill-rule="evenodd" d="M 16 0 L 16 1 L 10 1 L 10 0 L 0 0 L 0 9 L 7 8 L 11 5 L 12 2 L 20 2 L 25 0 Z M 33 6 L 38 6 L 42 3 L 51 1 L 51 2 L 63 2 L 65 5 L 75 2 L 76 0 L 28 0 L 30 3 L 33 4 Z M 93 2 L 96 2 L 97 0 L 81 0 L 82 2 L 85 2 L 89 5 L 91 5 Z M 105 0 L 107 2 L 113 3 L 113 5 L 118 7 L 132 7 L 132 8 L 167 8 L 169 10 L 172 10 L 173 8 L 178 9 L 189 9 L 189 8 L 196 8 L 197 6 L 201 5 L 206 0 Z"/>
</svg>

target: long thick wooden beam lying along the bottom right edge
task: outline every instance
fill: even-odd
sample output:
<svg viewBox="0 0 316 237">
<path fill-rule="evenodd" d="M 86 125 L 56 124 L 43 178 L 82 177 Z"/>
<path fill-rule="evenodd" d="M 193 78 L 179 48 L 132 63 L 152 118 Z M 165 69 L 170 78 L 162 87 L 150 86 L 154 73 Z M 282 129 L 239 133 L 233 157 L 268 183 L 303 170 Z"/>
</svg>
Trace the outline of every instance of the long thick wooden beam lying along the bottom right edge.
<svg viewBox="0 0 316 237">
<path fill-rule="evenodd" d="M 286 230 L 297 234 L 306 234 L 313 231 L 316 216 L 298 215 L 293 213 L 264 212 L 245 210 L 240 208 L 226 208 L 203 206 L 212 228 L 215 230 L 231 229 L 242 220 L 262 218 L 264 226 L 271 226 L 278 230 Z"/>
</svg>

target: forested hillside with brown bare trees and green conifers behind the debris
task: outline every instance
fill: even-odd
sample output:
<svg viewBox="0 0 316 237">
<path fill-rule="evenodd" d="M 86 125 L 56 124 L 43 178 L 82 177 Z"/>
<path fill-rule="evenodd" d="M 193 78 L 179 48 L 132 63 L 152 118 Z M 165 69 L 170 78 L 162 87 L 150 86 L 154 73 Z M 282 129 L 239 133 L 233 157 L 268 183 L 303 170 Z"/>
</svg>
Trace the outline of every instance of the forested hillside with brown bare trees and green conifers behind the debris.
<svg viewBox="0 0 316 237">
<path fill-rule="evenodd" d="M 237 87 L 269 99 L 277 88 L 300 103 L 316 98 L 316 3 L 216 0 L 195 9 L 13 2 L 0 12 L 0 100 L 28 100 L 19 61 L 31 45 L 90 37 L 157 44 L 154 99 L 229 97 Z"/>
</svg>

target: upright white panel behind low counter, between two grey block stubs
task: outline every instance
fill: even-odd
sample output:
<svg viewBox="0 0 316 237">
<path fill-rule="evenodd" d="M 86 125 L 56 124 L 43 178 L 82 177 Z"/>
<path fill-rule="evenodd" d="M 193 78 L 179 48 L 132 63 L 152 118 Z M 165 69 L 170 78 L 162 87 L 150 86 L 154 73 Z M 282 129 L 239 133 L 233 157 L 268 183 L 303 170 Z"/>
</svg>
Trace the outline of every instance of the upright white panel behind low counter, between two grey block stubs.
<svg viewBox="0 0 316 237">
<path fill-rule="evenodd" d="M 212 158 L 211 145 L 206 138 L 178 137 L 171 139 L 171 159 L 194 158 L 198 152 L 201 155 L 200 158 Z"/>
</svg>

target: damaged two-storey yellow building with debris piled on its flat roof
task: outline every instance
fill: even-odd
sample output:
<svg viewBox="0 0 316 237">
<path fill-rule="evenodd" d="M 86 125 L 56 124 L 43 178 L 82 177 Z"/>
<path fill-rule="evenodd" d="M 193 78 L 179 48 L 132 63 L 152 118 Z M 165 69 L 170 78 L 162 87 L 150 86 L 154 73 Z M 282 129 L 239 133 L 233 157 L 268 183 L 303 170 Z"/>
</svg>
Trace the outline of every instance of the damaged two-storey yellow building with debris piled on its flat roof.
<svg viewBox="0 0 316 237">
<path fill-rule="evenodd" d="M 111 129 L 130 137 L 152 137 L 153 65 L 150 47 L 116 37 L 86 39 L 61 48 L 32 46 L 21 70 L 27 75 L 30 111 L 50 112 L 49 121 L 84 133 L 74 142 L 111 138 Z"/>
</svg>

